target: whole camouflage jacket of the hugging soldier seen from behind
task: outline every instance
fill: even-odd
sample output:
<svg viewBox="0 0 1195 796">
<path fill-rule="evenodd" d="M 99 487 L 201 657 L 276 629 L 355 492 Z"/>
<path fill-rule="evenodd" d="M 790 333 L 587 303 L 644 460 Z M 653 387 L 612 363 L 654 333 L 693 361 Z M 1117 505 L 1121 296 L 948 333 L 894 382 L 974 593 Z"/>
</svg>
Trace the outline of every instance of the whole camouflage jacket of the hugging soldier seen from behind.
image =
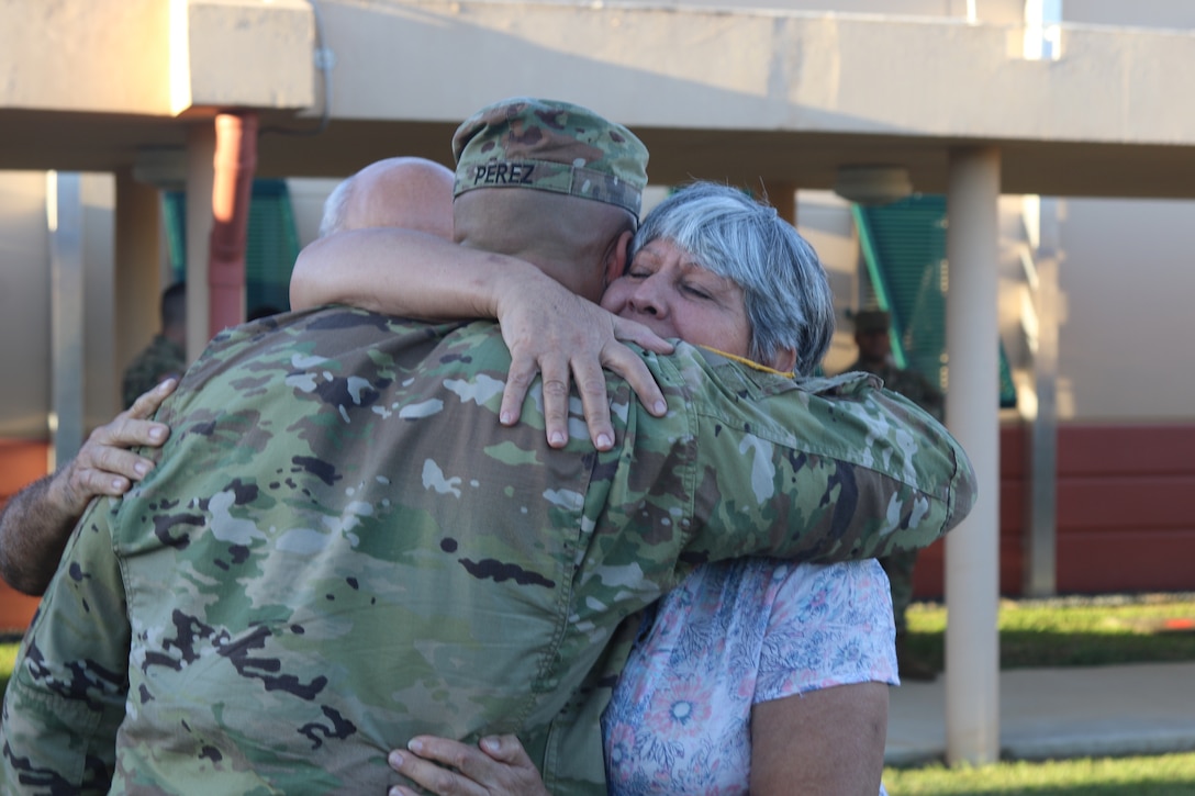
<svg viewBox="0 0 1195 796">
<path fill-rule="evenodd" d="M 958 445 L 870 376 L 679 349 L 645 355 L 664 418 L 611 380 L 598 453 L 578 416 L 546 446 L 540 394 L 498 424 L 491 323 L 226 330 L 159 465 L 80 520 L 5 699 L 4 792 L 382 794 L 412 735 L 491 731 L 551 791 L 603 792 L 600 699 L 574 711 L 624 617 L 701 561 L 924 546 L 970 509 Z"/>
</svg>

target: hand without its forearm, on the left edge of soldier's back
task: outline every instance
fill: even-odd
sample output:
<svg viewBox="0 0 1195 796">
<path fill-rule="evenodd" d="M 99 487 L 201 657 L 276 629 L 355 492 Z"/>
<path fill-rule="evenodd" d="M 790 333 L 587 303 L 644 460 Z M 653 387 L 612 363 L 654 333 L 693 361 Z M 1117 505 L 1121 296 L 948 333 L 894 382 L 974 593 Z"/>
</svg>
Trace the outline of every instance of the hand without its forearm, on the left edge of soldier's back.
<svg viewBox="0 0 1195 796">
<path fill-rule="evenodd" d="M 91 433 L 65 469 L 61 482 L 63 508 L 79 515 L 97 495 L 120 496 L 153 470 L 153 461 L 133 453 L 139 445 L 159 447 L 170 436 L 164 423 L 148 420 L 178 379 L 166 379 L 134 402 L 133 406 Z"/>
</svg>

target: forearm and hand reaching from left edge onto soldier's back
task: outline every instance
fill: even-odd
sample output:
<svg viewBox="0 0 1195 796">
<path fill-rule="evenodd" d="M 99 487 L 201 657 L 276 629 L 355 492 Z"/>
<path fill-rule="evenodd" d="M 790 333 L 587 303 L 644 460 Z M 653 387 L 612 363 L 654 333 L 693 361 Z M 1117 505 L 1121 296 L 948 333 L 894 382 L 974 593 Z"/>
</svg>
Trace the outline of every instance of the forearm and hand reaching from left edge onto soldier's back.
<svg viewBox="0 0 1195 796">
<path fill-rule="evenodd" d="M 0 577 L 25 594 L 45 592 L 79 516 L 97 495 L 120 496 L 153 469 L 129 448 L 158 447 L 170 428 L 148 418 L 178 381 L 167 379 L 87 437 L 79 454 L 51 476 L 8 500 L 0 510 Z"/>
</svg>

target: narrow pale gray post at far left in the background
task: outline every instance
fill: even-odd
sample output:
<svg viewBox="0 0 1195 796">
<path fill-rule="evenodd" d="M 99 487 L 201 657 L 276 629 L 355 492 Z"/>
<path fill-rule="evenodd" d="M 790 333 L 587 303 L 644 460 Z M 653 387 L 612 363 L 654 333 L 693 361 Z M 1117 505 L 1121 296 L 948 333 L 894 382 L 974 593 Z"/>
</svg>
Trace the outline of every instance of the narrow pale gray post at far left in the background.
<svg viewBox="0 0 1195 796">
<path fill-rule="evenodd" d="M 82 194 L 79 174 L 48 172 L 50 234 L 50 449 L 54 470 L 82 446 Z"/>
</svg>

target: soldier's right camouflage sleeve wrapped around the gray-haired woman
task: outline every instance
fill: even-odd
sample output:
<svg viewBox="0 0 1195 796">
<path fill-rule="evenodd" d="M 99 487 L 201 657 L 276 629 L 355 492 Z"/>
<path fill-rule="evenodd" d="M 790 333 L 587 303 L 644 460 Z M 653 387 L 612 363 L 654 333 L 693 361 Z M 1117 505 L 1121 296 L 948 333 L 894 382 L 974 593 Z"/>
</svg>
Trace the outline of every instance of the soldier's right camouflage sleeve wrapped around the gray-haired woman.
<svg viewBox="0 0 1195 796">
<path fill-rule="evenodd" d="M 686 563 L 870 558 L 925 547 L 970 512 L 975 476 L 962 447 L 875 378 L 792 382 L 705 367 L 716 379 L 686 379 L 697 439 Z"/>
</svg>

